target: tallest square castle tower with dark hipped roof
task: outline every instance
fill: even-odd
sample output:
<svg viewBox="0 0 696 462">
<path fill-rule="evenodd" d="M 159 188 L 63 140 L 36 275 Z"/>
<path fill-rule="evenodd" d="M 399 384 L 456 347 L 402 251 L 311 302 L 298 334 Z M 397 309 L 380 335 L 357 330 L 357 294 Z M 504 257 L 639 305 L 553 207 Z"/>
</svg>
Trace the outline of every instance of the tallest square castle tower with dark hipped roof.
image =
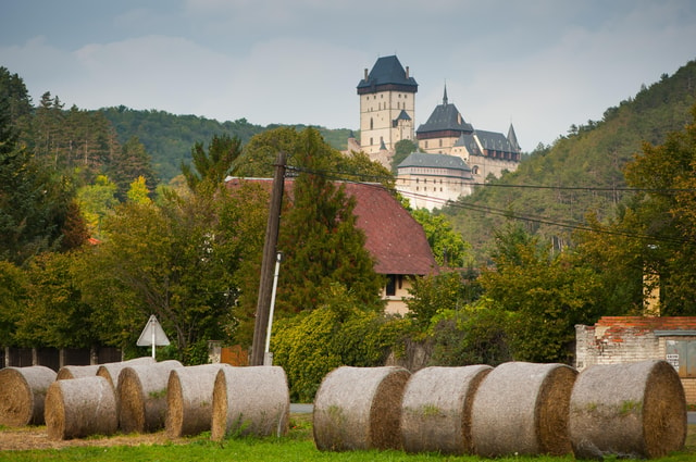
<svg viewBox="0 0 696 462">
<path fill-rule="evenodd" d="M 360 96 L 360 147 L 369 155 L 380 148 L 394 151 L 402 139 L 413 140 L 418 84 L 397 57 L 380 58 L 372 71 L 365 68 L 358 84 Z"/>
</svg>

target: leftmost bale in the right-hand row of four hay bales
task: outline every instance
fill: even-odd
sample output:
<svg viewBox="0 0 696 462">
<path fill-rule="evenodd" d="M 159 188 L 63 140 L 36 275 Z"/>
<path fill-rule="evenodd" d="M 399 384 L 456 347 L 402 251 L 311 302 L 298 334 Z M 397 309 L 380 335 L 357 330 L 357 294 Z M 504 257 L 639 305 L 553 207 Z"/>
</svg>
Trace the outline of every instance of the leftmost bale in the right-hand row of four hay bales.
<svg viewBox="0 0 696 462">
<path fill-rule="evenodd" d="M 314 398 L 314 444 L 321 451 L 400 449 L 403 367 L 343 366 L 328 373 Z"/>
</svg>

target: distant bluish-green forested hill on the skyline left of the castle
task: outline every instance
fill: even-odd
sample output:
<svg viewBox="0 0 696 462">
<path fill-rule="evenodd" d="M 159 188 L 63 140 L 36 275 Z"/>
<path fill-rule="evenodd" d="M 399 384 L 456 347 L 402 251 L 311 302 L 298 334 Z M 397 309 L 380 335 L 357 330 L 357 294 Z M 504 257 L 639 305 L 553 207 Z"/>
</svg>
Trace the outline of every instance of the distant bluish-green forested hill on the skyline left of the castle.
<svg viewBox="0 0 696 462">
<path fill-rule="evenodd" d="M 196 142 L 208 146 L 214 135 L 237 136 L 246 143 L 253 135 L 278 125 L 254 125 L 246 118 L 217 122 L 196 115 L 175 115 L 164 111 L 140 111 L 126 107 L 105 108 L 100 112 L 112 123 L 119 142 L 124 145 L 137 136 L 152 158 L 152 166 L 161 182 L 166 183 L 181 173 L 181 163 L 191 159 Z M 298 129 L 304 128 L 297 125 Z M 350 129 L 319 128 L 331 146 L 344 150 Z"/>
</svg>

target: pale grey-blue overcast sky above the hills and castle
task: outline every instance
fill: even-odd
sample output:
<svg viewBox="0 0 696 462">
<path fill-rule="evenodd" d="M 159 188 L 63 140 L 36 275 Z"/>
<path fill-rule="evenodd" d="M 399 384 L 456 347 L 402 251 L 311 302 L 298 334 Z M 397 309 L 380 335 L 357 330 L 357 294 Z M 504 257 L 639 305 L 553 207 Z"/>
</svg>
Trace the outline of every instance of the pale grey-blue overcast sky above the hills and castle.
<svg viewBox="0 0 696 462">
<path fill-rule="evenodd" d="M 356 86 L 391 54 L 417 127 L 446 83 L 529 152 L 696 59 L 696 1 L 0 0 L 0 66 L 35 104 L 358 129 Z"/>
</svg>

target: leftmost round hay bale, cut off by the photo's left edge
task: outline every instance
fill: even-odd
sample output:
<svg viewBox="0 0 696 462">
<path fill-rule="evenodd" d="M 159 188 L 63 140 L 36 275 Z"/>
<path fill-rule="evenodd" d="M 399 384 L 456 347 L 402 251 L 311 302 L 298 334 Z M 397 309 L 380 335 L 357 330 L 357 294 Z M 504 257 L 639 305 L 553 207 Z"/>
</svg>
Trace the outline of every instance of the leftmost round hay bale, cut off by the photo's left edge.
<svg viewBox="0 0 696 462">
<path fill-rule="evenodd" d="M 48 387 L 55 371 L 42 365 L 0 371 L 0 425 L 42 425 Z"/>
</svg>

